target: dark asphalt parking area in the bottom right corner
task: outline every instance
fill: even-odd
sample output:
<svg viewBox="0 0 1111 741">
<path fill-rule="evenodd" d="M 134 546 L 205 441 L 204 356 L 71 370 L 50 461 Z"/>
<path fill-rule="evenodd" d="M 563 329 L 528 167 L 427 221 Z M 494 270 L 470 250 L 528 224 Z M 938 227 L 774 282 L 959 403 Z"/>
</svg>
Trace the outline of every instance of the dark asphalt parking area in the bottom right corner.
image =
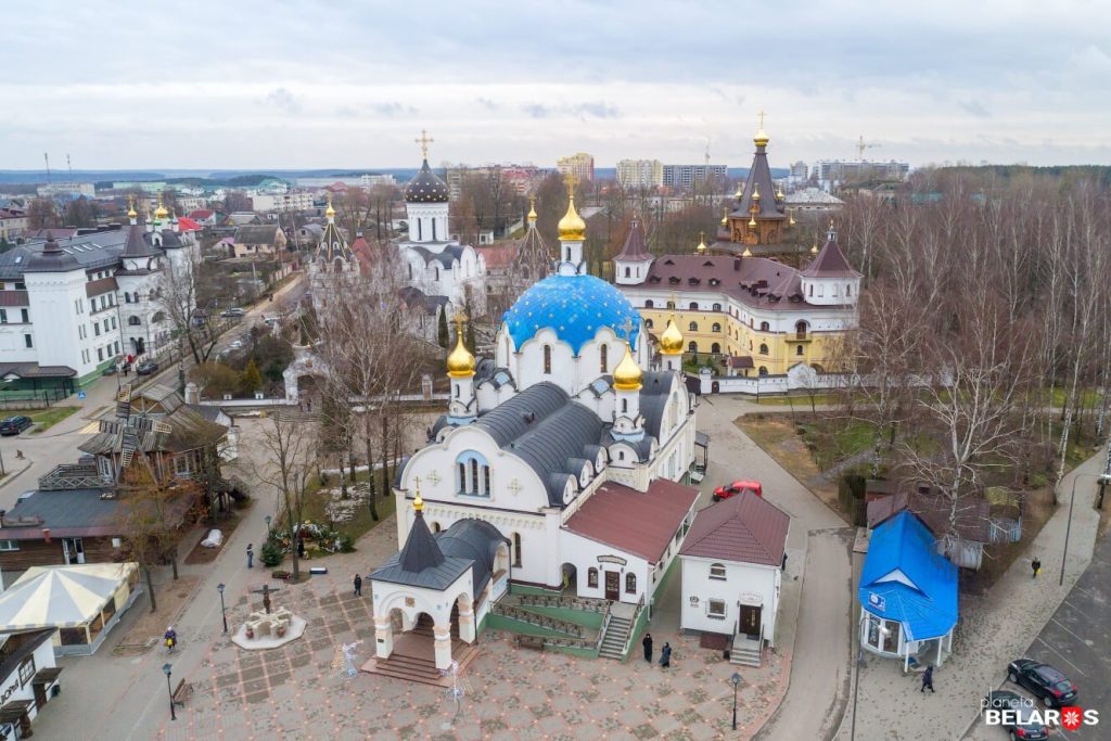
<svg viewBox="0 0 1111 741">
<path fill-rule="evenodd" d="M 1055 580 L 1053 569 L 1042 578 Z M 1061 607 L 1027 650 L 1027 657 L 1061 670 L 1077 685 L 1078 703 L 1098 710 L 1099 725 L 1081 725 L 1075 731 L 1055 729 L 1053 738 L 1105 739 L 1111 728 L 1111 537 L 1095 543 L 1092 562 L 1069 592 Z M 1029 695 L 1007 682 L 1003 689 Z M 1039 707 L 1041 707 L 1039 704 Z M 973 724 L 969 739 L 991 741 L 1007 738 L 1003 730 Z"/>
</svg>

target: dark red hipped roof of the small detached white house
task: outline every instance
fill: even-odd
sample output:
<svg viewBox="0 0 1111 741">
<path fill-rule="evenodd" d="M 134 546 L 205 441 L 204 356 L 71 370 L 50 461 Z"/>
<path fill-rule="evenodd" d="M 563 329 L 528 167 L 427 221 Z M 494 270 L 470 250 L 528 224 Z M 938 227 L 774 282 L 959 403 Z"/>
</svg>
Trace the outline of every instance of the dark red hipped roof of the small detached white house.
<svg viewBox="0 0 1111 741">
<path fill-rule="evenodd" d="M 700 511 L 679 554 L 782 565 L 790 522 L 787 512 L 745 490 Z"/>
</svg>

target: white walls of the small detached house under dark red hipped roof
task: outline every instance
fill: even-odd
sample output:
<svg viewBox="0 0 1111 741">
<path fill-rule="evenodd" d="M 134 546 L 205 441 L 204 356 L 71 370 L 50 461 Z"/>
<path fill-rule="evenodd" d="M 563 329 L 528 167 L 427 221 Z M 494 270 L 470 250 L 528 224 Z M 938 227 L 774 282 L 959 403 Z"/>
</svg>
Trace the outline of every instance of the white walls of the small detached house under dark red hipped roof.
<svg viewBox="0 0 1111 741">
<path fill-rule="evenodd" d="M 681 555 L 680 628 L 735 634 L 741 611 L 760 608 L 760 631 L 775 645 L 782 569 L 779 567 Z"/>
</svg>

